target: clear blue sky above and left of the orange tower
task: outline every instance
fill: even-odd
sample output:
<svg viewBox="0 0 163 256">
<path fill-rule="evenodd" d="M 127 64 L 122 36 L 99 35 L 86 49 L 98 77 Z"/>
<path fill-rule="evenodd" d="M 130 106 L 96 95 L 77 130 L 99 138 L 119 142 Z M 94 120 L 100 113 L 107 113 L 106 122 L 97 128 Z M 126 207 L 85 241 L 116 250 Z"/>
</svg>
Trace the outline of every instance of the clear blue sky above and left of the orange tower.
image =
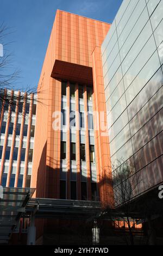
<svg viewBox="0 0 163 256">
<path fill-rule="evenodd" d="M 122 0 L 1 0 L 0 24 L 10 27 L 4 42 L 13 54 L 12 69 L 21 70 L 15 88 L 34 88 L 57 9 L 112 23 Z M 1 41 L 0 41 L 1 44 Z"/>
</svg>

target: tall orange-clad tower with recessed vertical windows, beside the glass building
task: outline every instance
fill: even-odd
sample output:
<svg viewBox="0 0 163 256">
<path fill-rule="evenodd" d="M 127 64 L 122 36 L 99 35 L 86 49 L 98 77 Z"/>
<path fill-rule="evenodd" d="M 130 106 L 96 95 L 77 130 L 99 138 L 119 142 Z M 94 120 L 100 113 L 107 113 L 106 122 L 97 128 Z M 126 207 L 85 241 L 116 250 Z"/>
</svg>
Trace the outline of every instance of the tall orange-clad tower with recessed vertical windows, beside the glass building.
<svg viewBox="0 0 163 256">
<path fill-rule="evenodd" d="M 106 200 L 112 194 L 102 66 L 111 25 L 57 10 L 37 97 L 32 187 L 36 197 Z M 106 192 L 107 191 L 107 192 Z"/>
</svg>

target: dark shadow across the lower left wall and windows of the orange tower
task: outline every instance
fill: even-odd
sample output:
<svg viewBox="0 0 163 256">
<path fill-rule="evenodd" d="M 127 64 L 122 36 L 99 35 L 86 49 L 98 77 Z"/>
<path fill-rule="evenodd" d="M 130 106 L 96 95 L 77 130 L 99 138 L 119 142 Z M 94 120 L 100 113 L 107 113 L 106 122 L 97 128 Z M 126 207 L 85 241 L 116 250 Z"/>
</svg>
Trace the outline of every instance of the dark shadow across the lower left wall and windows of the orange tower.
<svg viewBox="0 0 163 256">
<path fill-rule="evenodd" d="M 48 162 L 48 165 L 46 164 Z M 54 168 L 53 168 L 54 167 Z M 39 168 L 37 170 L 37 181 L 36 181 L 36 198 L 62 198 L 65 199 L 63 194 L 66 193 L 66 174 L 69 173 L 70 178 L 67 177 L 67 182 L 71 184 L 70 199 L 77 200 L 77 191 L 81 191 L 80 200 L 99 200 L 99 192 L 102 184 L 96 184 L 96 182 L 91 182 L 91 178 L 87 178 L 86 182 L 86 172 L 73 173 L 70 169 L 65 173 L 65 179 L 61 178 L 60 163 L 58 160 L 52 159 L 52 157 L 47 156 L 47 142 L 43 147 Z M 60 181 L 61 180 L 61 181 Z M 77 180 L 79 180 L 80 187 L 77 187 Z M 109 182 L 110 184 L 110 182 Z M 64 191 L 60 191 L 60 185 Z"/>
</svg>

